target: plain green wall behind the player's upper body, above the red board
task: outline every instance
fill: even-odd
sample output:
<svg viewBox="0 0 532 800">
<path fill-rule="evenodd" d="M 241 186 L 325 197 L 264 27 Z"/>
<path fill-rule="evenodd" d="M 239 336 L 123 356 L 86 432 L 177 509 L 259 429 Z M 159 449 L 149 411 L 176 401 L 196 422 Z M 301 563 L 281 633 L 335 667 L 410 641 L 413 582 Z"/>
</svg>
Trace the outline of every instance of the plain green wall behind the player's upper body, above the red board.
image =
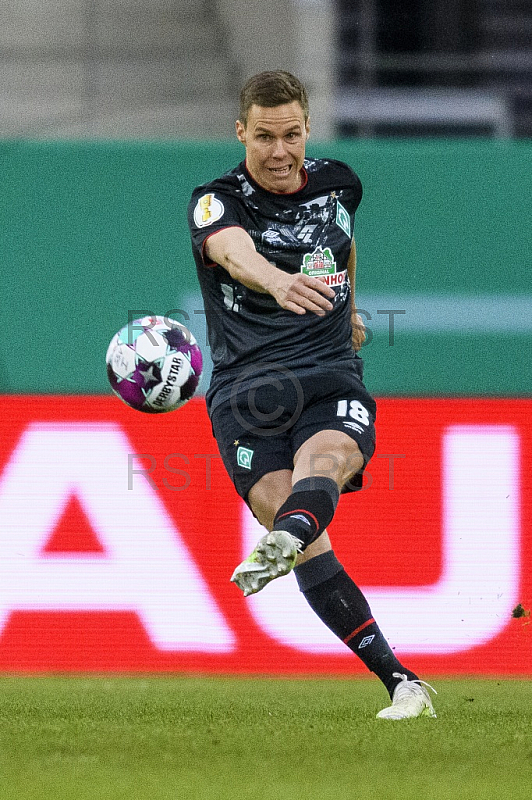
<svg viewBox="0 0 532 800">
<path fill-rule="evenodd" d="M 107 393 L 107 345 L 133 309 L 186 310 L 207 350 L 186 206 L 242 155 L 237 142 L 0 142 L 0 391 Z M 364 186 L 371 391 L 530 394 L 532 143 L 346 141 L 309 155 L 347 161 Z M 393 336 L 387 309 L 404 311 Z"/>
</svg>

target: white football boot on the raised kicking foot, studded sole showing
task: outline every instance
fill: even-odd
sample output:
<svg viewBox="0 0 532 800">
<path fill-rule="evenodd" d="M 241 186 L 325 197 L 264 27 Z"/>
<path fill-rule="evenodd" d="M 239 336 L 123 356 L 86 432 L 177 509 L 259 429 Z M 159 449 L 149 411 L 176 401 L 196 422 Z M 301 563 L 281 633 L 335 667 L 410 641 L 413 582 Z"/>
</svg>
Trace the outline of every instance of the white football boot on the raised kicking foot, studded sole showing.
<svg viewBox="0 0 532 800">
<path fill-rule="evenodd" d="M 250 556 L 233 572 L 231 580 L 244 597 L 264 589 L 274 578 L 291 572 L 303 542 L 287 531 L 271 531 L 259 539 Z"/>
</svg>

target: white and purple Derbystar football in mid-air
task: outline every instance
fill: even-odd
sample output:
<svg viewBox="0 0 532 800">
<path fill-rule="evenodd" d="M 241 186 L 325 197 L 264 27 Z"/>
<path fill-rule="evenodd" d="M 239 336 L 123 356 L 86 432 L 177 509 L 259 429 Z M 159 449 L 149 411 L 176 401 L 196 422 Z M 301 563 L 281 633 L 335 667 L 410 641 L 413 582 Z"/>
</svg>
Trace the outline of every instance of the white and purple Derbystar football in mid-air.
<svg viewBox="0 0 532 800">
<path fill-rule="evenodd" d="M 203 367 L 196 339 L 161 316 L 124 325 L 107 349 L 107 377 L 118 397 L 137 411 L 162 414 L 194 395 Z"/>
</svg>

